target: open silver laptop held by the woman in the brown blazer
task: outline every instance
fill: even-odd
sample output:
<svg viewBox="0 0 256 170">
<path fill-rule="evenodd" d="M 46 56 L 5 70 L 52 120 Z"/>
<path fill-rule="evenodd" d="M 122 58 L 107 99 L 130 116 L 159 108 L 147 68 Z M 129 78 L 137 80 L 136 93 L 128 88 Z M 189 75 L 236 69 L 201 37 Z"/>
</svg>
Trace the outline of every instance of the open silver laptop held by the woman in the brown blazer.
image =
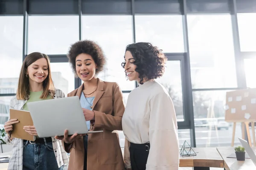
<svg viewBox="0 0 256 170">
<path fill-rule="evenodd" d="M 27 103 L 39 137 L 63 136 L 74 133 L 96 133 L 88 131 L 78 96 Z"/>
</svg>

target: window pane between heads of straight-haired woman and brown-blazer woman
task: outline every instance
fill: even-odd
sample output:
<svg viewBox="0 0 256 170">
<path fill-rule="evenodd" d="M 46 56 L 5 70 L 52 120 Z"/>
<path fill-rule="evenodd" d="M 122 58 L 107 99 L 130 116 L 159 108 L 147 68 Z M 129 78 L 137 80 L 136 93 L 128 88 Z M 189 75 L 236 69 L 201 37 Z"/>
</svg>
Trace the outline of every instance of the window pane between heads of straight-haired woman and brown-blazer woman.
<svg viewBox="0 0 256 170">
<path fill-rule="evenodd" d="M 55 88 L 63 91 L 65 96 L 75 89 L 75 76 L 68 62 L 51 63 L 51 72 Z"/>
</svg>

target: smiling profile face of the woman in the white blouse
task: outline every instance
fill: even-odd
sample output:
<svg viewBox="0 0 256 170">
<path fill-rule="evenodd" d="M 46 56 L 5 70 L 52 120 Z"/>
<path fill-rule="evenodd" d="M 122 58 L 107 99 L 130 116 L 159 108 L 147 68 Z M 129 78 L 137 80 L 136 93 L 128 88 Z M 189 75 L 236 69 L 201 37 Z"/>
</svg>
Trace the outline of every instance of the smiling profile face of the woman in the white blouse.
<svg viewBox="0 0 256 170">
<path fill-rule="evenodd" d="M 139 73 L 135 71 L 137 68 L 136 65 L 134 65 L 134 57 L 132 56 L 130 51 L 125 52 L 125 72 L 128 76 L 128 79 L 130 81 L 137 80 L 140 81 Z"/>
</svg>

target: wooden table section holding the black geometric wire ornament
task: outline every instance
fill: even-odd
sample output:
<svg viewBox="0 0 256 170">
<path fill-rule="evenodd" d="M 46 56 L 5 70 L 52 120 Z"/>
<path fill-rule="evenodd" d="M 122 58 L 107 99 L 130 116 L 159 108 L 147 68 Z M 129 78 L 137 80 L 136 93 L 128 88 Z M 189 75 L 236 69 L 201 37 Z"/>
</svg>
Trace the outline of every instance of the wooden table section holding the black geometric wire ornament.
<svg viewBox="0 0 256 170">
<path fill-rule="evenodd" d="M 195 147 L 192 148 L 196 156 L 180 156 L 180 167 L 194 167 L 194 170 L 209 170 L 209 167 L 224 167 L 224 161 L 221 158 L 216 147 Z"/>
</svg>

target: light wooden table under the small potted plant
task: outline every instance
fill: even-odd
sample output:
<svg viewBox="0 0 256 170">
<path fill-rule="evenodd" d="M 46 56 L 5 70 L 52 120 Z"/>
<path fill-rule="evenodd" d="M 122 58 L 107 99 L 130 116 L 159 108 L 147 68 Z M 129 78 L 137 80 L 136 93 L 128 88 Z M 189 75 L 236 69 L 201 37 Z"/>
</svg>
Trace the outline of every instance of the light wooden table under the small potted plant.
<svg viewBox="0 0 256 170">
<path fill-rule="evenodd" d="M 224 160 L 225 170 L 256 170 L 256 166 L 251 159 L 237 161 L 236 158 L 227 158 L 235 152 L 234 147 L 217 147 L 217 150 Z M 256 151 L 256 147 L 253 147 L 253 150 Z"/>
</svg>

